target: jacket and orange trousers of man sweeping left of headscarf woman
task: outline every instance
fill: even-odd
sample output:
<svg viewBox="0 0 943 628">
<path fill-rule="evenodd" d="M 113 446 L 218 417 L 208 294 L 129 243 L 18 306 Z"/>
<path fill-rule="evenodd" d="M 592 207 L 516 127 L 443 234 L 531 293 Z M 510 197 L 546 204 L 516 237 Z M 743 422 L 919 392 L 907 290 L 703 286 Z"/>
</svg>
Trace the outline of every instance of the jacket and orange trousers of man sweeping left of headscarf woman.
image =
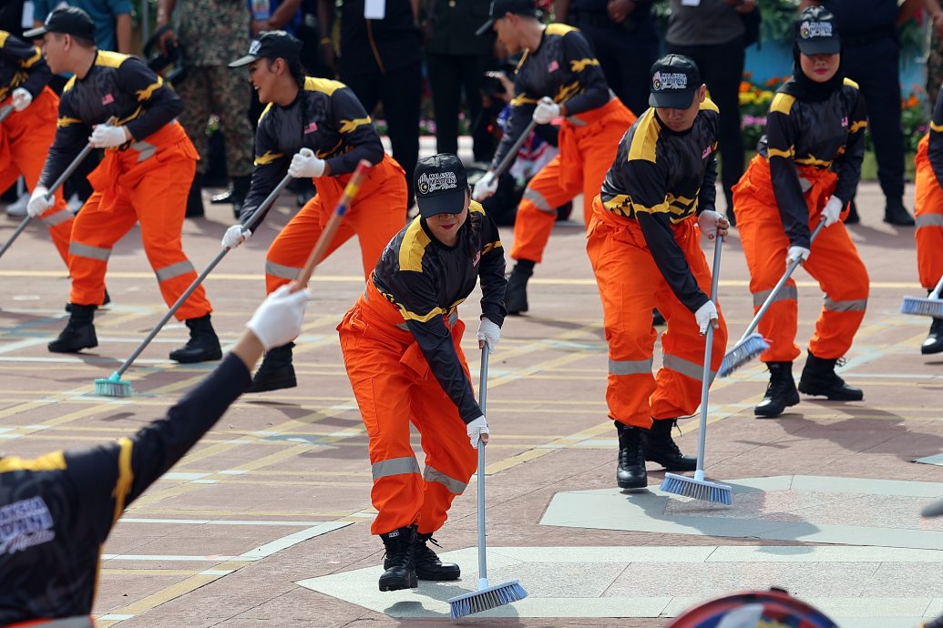
<svg viewBox="0 0 943 628">
<path fill-rule="evenodd" d="M 686 135 L 663 134 L 648 109 L 620 141 L 593 201 L 587 253 L 609 346 L 606 404 L 626 426 L 647 429 L 653 420 L 693 414 L 701 404 L 704 340 L 694 313 L 709 298 L 711 269 L 694 215 L 714 204 L 717 122 L 717 107 L 706 101 Z M 655 377 L 653 308 L 668 323 Z M 712 374 L 727 342 L 720 306 L 718 314 Z"/>
</svg>

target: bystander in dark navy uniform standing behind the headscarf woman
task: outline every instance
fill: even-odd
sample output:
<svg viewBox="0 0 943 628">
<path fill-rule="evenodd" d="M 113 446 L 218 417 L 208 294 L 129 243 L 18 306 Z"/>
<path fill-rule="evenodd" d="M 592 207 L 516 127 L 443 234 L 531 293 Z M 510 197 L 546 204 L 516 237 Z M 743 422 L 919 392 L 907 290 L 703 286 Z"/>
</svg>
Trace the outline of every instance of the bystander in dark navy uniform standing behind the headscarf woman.
<svg viewBox="0 0 943 628">
<path fill-rule="evenodd" d="M 809 6 L 827 8 L 835 15 L 845 76 L 857 83 L 865 97 L 878 181 L 885 195 L 884 221 L 912 227 L 914 218 L 903 206 L 901 42 L 897 32 L 901 9 L 897 0 L 802 0 L 801 9 Z M 849 218 L 848 222 L 857 222 L 856 213 Z"/>
</svg>

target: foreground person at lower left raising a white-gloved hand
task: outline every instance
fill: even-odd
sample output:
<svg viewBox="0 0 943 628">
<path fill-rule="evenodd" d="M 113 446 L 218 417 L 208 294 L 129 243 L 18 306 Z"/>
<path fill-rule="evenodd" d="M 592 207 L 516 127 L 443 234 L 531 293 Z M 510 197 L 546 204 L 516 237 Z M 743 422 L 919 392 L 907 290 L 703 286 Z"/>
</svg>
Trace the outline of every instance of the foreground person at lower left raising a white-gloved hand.
<svg viewBox="0 0 943 628">
<path fill-rule="evenodd" d="M 297 337 L 308 298 L 297 284 L 270 295 L 216 370 L 134 436 L 36 459 L 0 456 L 0 625 L 69 618 L 91 628 L 111 528 L 216 425 L 262 351 Z"/>
</svg>

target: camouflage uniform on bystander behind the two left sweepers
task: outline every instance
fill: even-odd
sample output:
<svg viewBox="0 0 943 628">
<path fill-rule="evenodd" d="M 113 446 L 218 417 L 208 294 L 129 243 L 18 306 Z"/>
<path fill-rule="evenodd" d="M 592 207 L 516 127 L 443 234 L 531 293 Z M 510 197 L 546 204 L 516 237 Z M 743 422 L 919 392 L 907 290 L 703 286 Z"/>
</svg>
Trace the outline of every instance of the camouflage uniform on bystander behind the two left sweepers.
<svg viewBox="0 0 943 628">
<path fill-rule="evenodd" d="M 208 150 L 207 120 L 220 117 L 230 177 L 252 174 L 255 134 L 249 122 L 251 92 L 245 69 L 226 64 L 249 47 L 249 9 L 245 0 L 179 0 L 174 29 L 187 58 L 187 78 L 174 86 L 186 105 L 180 123 L 201 157 Z M 197 171 L 206 172 L 200 161 Z"/>
</svg>

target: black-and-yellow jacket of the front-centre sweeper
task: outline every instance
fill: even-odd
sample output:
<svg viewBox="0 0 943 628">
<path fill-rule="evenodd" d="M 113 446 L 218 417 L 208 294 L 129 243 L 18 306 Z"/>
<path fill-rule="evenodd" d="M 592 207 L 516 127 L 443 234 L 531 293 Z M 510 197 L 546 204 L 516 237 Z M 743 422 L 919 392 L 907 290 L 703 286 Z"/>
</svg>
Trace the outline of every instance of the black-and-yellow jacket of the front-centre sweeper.
<svg viewBox="0 0 943 628">
<path fill-rule="evenodd" d="M 465 423 L 481 416 L 472 384 L 442 320 L 468 298 L 481 279 L 481 313 L 499 327 L 505 322 L 505 250 L 494 220 L 472 201 L 454 247 L 429 232 L 416 217 L 397 233 L 373 269 L 372 282 L 399 309 L 442 390 Z"/>
</svg>

